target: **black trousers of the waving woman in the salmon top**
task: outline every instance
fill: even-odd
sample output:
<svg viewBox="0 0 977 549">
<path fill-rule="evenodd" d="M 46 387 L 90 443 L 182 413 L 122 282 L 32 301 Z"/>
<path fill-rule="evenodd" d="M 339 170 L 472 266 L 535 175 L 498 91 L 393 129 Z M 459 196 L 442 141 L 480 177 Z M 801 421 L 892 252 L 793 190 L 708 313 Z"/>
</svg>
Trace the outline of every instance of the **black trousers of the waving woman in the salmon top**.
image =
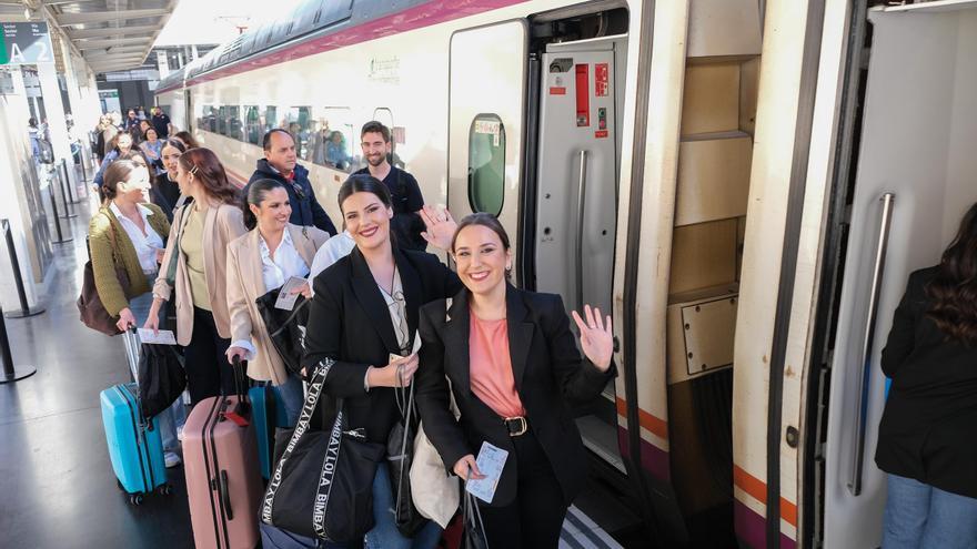
<svg viewBox="0 0 977 549">
<path fill-rule="evenodd" d="M 563 489 L 532 429 L 512 444 L 515 455 L 508 459 L 517 460 L 518 470 L 515 499 L 505 507 L 479 501 L 488 547 L 555 549 L 566 517 Z"/>
</svg>

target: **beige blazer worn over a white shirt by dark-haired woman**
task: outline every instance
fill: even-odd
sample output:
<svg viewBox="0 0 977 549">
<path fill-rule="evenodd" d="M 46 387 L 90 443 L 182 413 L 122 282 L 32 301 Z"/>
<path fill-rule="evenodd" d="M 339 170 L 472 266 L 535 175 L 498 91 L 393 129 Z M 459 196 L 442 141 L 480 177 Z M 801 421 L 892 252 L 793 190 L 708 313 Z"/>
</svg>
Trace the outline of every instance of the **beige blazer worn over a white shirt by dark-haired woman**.
<svg viewBox="0 0 977 549">
<path fill-rule="evenodd" d="M 312 265 L 315 251 L 329 240 L 329 233 L 315 227 L 301 227 L 289 223 L 295 252 Z M 261 319 L 256 299 L 268 292 L 261 265 L 261 241 L 258 230 L 241 236 L 228 248 L 228 308 L 231 313 L 231 340 L 250 339 L 255 356 L 248 362 L 248 377 L 274 385 L 285 383 L 289 372 L 279 356 L 268 328 Z"/>
</svg>

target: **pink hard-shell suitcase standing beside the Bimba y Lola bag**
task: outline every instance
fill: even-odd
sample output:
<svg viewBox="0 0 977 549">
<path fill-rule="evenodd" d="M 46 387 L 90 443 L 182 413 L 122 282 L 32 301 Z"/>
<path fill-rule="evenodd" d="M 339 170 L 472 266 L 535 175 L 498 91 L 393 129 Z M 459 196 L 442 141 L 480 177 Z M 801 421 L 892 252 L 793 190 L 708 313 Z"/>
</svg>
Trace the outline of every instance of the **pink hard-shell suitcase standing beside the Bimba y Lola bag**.
<svg viewBox="0 0 977 549">
<path fill-rule="evenodd" d="M 240 379 L 241 365 L 235 365 Z M 183 426 L 183 467 L 199 549 L 258 546 L 263 494 L 254 424 L 243 389 L 193 407 Z"/>
</svg>

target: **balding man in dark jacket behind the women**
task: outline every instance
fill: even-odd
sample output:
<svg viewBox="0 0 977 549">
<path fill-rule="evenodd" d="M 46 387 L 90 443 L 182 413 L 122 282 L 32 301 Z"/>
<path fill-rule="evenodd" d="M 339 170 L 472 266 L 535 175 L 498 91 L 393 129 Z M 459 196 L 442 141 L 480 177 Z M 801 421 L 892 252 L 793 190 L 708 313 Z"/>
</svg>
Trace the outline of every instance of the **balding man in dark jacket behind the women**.
<svg viewBox="0 0 977 549">
<path fill-rule="evenodd" d="M 300 226 L 316 226 L 330 236 L 335 236 L 335 225 L 315 200 L 309 170 L 299 164 L 295 153 L 295 140 L 288 131 L 275 128 L 264 134 L 264 159 L 258 161 L 254 173 L 248 185 L 258 180 L 275 180 L 285 184 L 289 201 L 292 203 L 292 216 L 289 222 Z M 248 195 L 248 186 L 244 187 Z"/>
</svg>

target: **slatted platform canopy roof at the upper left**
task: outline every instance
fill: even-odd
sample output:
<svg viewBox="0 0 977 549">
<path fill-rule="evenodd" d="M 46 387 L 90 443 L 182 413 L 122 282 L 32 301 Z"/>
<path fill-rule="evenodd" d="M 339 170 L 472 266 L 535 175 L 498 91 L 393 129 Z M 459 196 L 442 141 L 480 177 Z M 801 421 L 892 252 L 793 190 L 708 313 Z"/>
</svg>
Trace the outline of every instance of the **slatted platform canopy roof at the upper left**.
<svg viewBox="0 0 977 549">
<path fill-rule="evenodd" d="M 142 65 L 179 0 L 0 1 L 0 14 L 57 24 L 95 73 Z M 20 4 L 19 7 L 17 4 Z M 20 13 L 17 13 L 17 10 Z M 4 18 L 8 20 L 9 18 Z"/>
</svg>

